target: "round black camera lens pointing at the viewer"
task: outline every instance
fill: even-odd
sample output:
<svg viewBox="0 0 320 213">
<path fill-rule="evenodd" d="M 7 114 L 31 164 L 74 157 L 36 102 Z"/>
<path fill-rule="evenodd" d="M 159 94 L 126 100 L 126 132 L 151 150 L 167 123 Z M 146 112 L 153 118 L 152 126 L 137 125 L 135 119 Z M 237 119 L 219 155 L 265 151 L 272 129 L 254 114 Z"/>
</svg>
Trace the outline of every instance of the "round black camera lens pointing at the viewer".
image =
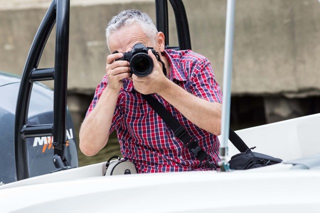
<svg viewBox="0 0 320 213">
<path fill-rule="evenodd" d="M 137 53 L 131 58 L 130 68 L 132 73 L 143 77 L 151 73 L 153 61 L 148 54 Z"/>
</svg>

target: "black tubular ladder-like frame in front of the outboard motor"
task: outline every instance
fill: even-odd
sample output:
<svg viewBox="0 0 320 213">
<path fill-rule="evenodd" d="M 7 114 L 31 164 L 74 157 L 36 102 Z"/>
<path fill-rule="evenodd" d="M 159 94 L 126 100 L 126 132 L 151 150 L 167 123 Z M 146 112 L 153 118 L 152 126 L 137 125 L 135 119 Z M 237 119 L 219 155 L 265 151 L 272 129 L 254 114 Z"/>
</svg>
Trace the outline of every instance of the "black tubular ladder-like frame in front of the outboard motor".
<svg viewBox="0 0 320 213">
<path fill-rule="evenodd" d="M 53 136 L 53 163 L 56 170 L 67 169 L 66 88 L 69 40 L 69 0 L 52 0 L 31 44 L 20 82 L 15 110 L 14 158 L 17 181 L 30 177 L 26 139 Z M 37 69 L 44 46 L 56 23 L 53 68 Z M 28 109 L 34 81 L 54 80 L 53 124 L 28 125 Z"/>
</svg>

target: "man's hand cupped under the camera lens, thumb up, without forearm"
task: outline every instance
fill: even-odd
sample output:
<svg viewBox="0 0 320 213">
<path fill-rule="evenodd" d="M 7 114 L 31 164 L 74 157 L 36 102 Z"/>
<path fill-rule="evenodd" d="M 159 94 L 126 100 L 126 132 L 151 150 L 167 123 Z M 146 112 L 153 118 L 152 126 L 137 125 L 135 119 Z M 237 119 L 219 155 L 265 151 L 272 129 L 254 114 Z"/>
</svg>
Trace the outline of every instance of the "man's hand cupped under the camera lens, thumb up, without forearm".
<svg viewBox="0 0 320 213">
<path fill-rule="evenodd" d="M 155 55 L 150 49 L 148 50 L 148 55 L 153 61 L 152 72 L 144 77 L 139 77 L 133 74 L 131 78 L 134 89 L 141 94 L 159 93 L 160 90 L 164 89 L 164 82 L 168 80 L 163 74 L 162 65 L 160 66 Z"/>
</svg>

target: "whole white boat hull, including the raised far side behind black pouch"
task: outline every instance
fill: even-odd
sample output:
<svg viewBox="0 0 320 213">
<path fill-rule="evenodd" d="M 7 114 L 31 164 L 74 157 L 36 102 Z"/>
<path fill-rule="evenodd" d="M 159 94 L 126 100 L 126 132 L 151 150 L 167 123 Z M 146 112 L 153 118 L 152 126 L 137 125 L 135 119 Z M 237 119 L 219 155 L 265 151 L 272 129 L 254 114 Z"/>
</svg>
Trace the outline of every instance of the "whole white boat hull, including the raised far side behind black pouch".
<svg viewBox="0 0 320 213">
<path fill-rule="evenodd" d="M 249 147 L 257 146 L 257 152 L 292 160 L 320 153 L 318 121 L 320 114 L 237 133 Z M 237 153 L 234 149 L 230 148 L 230 154 Z M 305 170 L 281 163 L 245 171 L 107 177 L 104 165 L 0 186 L 1 213 L 320 212 L 320 163 Z"/>
</svg>

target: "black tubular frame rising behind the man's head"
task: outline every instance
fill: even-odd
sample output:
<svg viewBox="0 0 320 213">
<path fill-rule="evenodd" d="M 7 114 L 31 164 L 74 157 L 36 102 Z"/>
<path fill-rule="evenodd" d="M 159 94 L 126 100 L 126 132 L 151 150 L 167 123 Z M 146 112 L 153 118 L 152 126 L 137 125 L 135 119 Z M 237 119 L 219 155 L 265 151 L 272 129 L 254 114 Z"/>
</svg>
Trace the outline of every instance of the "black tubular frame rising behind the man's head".
<svg viewBox="0 0 320 213">
<path fill-rule="evenodd" d="M 175 25 L 178 36 L 177 49 L 191 49 L 191 39 L 188 20 L 182 0 L 169 0 L 175 17 Z M 163 32 L 165 48 L 175 48 L 169 46 L 168 33 L 168 9 L 167 0 L 155 0 L 156 26 L 158 31 Z"/>
</svg>

